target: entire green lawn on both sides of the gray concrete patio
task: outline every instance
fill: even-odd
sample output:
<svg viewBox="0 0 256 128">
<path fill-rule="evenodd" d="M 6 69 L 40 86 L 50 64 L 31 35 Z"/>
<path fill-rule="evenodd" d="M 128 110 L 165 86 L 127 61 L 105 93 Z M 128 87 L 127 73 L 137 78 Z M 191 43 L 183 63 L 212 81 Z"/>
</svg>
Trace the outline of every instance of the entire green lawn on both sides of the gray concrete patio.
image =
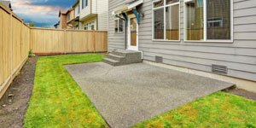
<svg viewBox="0 0 256 128">
<path fill-rule="evenodd" d="M 63 65 L 102 61 L 104 55 L 60 55 L 38 60 L 24 127 L 108 127 Z M 256 102 L 218 92 L 134 127 L 255 127 Z"/>
</svg>

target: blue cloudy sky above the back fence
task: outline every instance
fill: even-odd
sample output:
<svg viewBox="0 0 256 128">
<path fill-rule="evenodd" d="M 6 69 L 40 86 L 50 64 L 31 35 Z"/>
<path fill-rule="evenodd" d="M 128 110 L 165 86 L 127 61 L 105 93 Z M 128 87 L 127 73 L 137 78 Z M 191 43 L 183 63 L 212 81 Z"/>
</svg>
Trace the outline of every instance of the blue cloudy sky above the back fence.
<svg viewBox="0 0 256 128">
<path fill-rule="evenodd" d="M 12 0 L 16 15 L 36 26 L 53 26 L 59 20 L 60 9 L 69 9 L 76 0 Z"/>
</svg>

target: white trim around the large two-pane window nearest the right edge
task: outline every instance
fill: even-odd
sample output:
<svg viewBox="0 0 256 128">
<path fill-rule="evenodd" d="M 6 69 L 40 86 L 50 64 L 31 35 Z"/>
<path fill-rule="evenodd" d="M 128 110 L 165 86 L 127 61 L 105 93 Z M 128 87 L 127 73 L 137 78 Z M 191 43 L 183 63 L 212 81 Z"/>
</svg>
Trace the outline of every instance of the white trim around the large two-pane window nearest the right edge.
<svg viewBox="0 0 256 128">
<path fill-rule="evenodd" d="M 207 0 L 203 0 L 204 3 L 204 39 L 203 40 L 187 40 L 186 33 L 186 8 L 185 3 L 191 2 L 192 0 L 183 0 L 183 39 L 185 43 L 196 43 L 196 42 L 206 42 L 206 43 L 234 43 L 234 8 L 233 0 L 230 0 L 230 39 L 207 39 Z"/>
</svg>

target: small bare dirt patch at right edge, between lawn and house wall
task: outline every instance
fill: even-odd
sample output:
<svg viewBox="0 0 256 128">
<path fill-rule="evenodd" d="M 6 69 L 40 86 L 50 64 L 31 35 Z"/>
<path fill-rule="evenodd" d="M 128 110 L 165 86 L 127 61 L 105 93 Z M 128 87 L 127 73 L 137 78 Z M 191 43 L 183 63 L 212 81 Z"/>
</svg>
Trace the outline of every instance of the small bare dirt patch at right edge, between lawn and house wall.
<svg viewBox="0 0 256 128">
<path fill-rule="evenodd" d="M 227 90 L 229 93 L 232 93 L 232 94 L 235 94 L 235 95 L 238 95 L 238 96 L 243 96 L 247 99 L 251 99 L 251 100 L 254 100 L 256 101 L 256 93 L 253 93 L 253 92 L 250 92 L 250 91 L 247 91 L 247 90 L 241 90 L 241 89 L 232 89 L 232 90 Z"/>
</svg>

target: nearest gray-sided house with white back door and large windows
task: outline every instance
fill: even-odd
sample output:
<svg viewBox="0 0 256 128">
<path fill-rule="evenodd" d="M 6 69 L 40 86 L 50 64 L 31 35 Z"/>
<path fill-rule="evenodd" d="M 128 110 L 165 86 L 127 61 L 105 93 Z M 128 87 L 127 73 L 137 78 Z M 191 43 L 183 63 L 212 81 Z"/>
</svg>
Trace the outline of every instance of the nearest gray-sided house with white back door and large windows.
<svg viewBox="0 0 256 128">
<path fill-rule="evenodd" d="M 108 15 L 109 52 L 255 90 L 255 0 L 109 0 Z"/>
</svg>

